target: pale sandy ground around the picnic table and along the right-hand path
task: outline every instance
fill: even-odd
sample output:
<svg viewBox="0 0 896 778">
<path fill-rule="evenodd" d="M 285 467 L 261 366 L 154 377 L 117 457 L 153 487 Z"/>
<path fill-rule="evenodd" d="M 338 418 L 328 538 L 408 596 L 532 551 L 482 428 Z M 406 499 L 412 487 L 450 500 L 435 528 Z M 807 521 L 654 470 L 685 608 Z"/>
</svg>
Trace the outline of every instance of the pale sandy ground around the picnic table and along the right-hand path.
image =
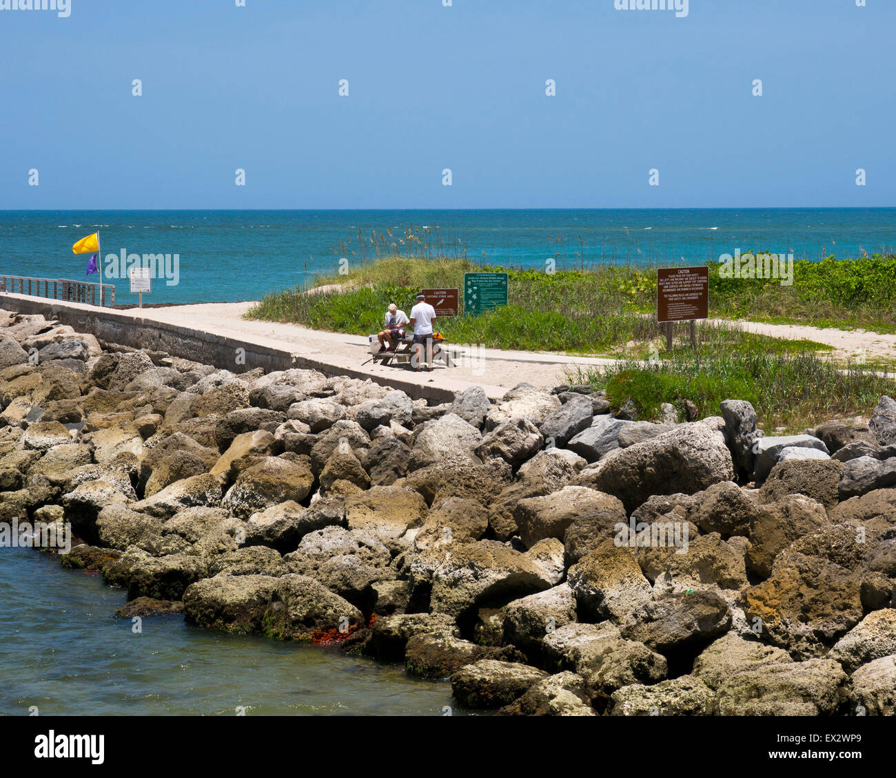
<svg viewBox="0 0 896 778">
<path fill-rule="evenodd" d="M 335 366 L 350 364 L 363 369 L 370 376 L 395 376 L 414 380 L 420 384 L 438 383 L 444 380 L 478 383 L 492 388 L 507 388 L 521 381 L 536 386 L 554 387 L 569 382 L 568 371 L 577 366 L 587 368 L 613 363 L 614 360 L 590 357 L 476 349 L 461 346 L 457 366 L 451 369 L 437 366 L 432 373 L 415 376 L 401 365 L 383 366 L 370 361 L 367 339 L 356 335 L 323 332 L 306 329 L 295 324 L 271 321 L 249 321 L 242 315 L 253 303 L 207 303 L 195 305 L 171 305 L 160 308 L 144 308 L 141 315 L 154 321 L 168 321 L 178 325 L 225 334 L 230 337 L 246 337 L 257 342 L 288 348 L 297 355 L 306 355 L 332 363 Z M 775 338 L 808 338 L 833 346 L 835 355 L 856 358 L 865 349 L 866 359 L 896 356 L 896 335 L 880 335 L 864 330 L 818 329 L 787 324 L 761 324 L 752 321 L 739 322 L 745 329 Z M 363 367 L 362 367 L 363 365 Z M 494 392 L 489 392 L 494 394 Z M 500 391 L 497 392 L 500 394 Z"/>
</svg>

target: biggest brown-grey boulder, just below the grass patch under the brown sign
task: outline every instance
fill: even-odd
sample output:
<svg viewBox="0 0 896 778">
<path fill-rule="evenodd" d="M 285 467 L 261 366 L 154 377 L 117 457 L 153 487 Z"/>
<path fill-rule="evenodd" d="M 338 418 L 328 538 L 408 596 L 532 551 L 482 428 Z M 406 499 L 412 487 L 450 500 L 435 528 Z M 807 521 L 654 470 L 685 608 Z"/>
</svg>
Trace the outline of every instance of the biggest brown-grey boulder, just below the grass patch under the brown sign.
<svg viewBox="0 0 896 778">
<path fill-rule="evenodd" d="M 694 494 L 734 477 L 725 436 L 710 420 L 686 424 L 607 457 L 591 485 L 631 512 L 651 494 Z"/>
</svg>

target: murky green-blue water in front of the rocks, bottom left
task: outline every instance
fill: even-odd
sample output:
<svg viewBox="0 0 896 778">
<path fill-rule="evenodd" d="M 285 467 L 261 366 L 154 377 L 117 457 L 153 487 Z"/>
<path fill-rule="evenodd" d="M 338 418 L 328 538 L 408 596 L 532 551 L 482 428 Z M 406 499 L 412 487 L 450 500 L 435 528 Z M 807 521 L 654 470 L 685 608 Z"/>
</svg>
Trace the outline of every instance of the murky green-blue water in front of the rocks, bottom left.
<svg viewBox="0 0 896 778">
<path fill-rule="evenodd" d="M 47 554 L 0 549 L 0 715 L 418 715 L 464 712 L 451 684 L 335 649 L 228 636 L 182 616 L 135 635 L 125 592 Z"/>
</svg>

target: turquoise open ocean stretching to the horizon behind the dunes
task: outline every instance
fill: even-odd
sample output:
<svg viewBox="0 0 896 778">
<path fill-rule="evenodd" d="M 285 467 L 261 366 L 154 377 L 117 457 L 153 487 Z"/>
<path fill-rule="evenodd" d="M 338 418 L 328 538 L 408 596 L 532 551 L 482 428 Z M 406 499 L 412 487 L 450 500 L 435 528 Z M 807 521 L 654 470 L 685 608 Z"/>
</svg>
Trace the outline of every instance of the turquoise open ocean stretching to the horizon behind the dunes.
<svg viewBox="0 0 896 778">
<path fill-rule="evenodd" d="M 170 255 L 144 303 L 255 300 L 332 273 L 342 257 L 362 261 L 359 232 L 397 238 L 409 227 L 473 261 L 534 268 L 547 258 L 559 268 L 676 265 L 736 249 L 817 260 L 896 246 L 896 209 L 0 211 L 0 273 L 86 278 L 88 255 L 71 247 L 99 230 L 118 304 L 136 302 L 126 277 L 110 278 L 121 262 L 109 255 L 121 252 Z"/>
</svg>

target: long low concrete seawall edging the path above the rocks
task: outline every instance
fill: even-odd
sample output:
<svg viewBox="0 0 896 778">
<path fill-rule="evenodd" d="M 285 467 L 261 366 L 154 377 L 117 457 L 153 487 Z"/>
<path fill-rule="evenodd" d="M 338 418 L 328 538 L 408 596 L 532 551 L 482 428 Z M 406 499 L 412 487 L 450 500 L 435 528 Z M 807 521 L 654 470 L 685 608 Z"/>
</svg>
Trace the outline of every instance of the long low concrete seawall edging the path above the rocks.
<svg viewBox="0 0 896 778">
<path fill-rule="evenodd" d="M 327 376 L 345 375 L 361 380 L 401 389 L 412 398 L 425 398 L 434 402 L 451 401 L 454 394 L 465 389 L 473 381 L 456 380 L 444 376 L 438 380 L 427 379 L 429 373 L 418 376 L 410 372 L 394 371 L 389 375 L 377 375 L 358 363 L 340 355 L 302 355 L 284 348 L 282 341 L 246 333 L 228 335 L 226 329 L 195 329 L 173 323 L 156 321 L 152 311 L 158 309 L 128 309 L 118 311 L 81 303 L 47 300 L 28 295 L 0 293 L 0 307 L 24 314 L 41 314 L 60 324 L 67 324 L 76 331 L 90 333 L 100 340 L 132 348 L 164 351 L 170 355 L 196 362 L 213 364 L 232 372 L 246 372 L 260 367 L 264 372 L 304 368 L 318 370 Z M 167 309 L 171 311 L 171 308 Z M 504 396 L 507 387 L 478 383 L 489 398 Z"/>
</svg>

